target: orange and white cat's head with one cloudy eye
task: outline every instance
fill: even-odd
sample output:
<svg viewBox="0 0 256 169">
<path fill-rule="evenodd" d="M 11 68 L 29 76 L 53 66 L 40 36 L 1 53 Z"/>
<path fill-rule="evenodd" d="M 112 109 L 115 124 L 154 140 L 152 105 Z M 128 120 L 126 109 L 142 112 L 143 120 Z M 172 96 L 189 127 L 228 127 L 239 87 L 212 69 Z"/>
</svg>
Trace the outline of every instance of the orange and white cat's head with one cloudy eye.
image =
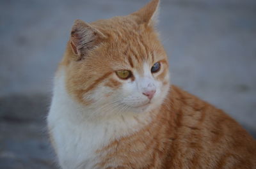
<svg viewBox="0 0 256 169">
<path fill-rule="evenodd" d="M 168 59 L 155 31 L 158 0 L 124 17 L 76 20 L 61 62 L 67 91 L 99 112 L 150 111 L 169 89 Z"/>
</svg>

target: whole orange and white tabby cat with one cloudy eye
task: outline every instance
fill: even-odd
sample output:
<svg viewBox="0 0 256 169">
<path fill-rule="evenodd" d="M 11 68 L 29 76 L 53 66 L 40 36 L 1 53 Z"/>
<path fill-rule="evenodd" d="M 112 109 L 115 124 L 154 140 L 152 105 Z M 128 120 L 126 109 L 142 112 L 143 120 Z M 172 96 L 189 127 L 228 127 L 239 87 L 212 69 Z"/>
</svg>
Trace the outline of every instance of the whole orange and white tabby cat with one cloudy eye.
<svg viewBox="0 0 256 169">
<path fill-rule="evenodd" d="M 158 6 L 74 22 L 47 116 L 61 168 L 256 168 L 252 136 L 170 85 Z"/>
</svg>

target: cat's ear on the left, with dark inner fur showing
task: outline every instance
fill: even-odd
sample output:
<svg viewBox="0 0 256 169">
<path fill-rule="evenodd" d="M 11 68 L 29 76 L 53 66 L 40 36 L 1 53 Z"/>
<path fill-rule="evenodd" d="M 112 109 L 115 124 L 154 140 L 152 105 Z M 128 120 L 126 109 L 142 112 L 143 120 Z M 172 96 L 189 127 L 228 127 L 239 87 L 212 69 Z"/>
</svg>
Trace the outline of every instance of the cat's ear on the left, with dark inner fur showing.
<svg viewBox="0 0 256 169">
<path fill-rule="evenodd" d="M 75 20 L 70 34 L 70 47 L 77 59 L 82 59 L 88 50 L 99 43 L 99 40 L 106 38 L 99 30 L 83 20 Z"/>
</svg>

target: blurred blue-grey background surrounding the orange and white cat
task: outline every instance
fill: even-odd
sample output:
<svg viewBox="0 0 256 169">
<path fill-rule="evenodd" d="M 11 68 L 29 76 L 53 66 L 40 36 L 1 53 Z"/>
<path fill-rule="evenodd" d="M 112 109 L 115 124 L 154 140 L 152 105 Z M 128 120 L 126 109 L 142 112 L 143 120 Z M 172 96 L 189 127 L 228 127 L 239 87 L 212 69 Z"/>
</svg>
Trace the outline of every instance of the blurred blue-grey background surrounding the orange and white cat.
<svg viewBox="0 0 256 169">
<path fill-rule="evenodd" d="M 0 168 L 57 168 L 45 132 L 52 78 L 76 18 L 128 15 L 149 0 L 0 1 Z M 256 1 L 162 0 L 172 83 L 256 137 Z"/>
</svg>

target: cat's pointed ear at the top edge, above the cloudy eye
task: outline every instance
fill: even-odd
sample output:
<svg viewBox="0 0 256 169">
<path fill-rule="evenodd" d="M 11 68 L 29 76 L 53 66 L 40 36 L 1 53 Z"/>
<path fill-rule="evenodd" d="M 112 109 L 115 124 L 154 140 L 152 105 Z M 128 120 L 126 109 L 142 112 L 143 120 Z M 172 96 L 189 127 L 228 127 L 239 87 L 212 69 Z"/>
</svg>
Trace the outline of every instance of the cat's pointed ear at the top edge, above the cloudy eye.
<svg viewBox="0 0 256 169">
<path fill-rule="evenodd" d="M 159 10 L 159 0 L 152 0 L 146 4 L 140 10 L 132 13 L 131 15 L 136 16 L 138 24 L 147 24 L 148 26 L 154 26 L 157 22 Z"/>
</svg>

